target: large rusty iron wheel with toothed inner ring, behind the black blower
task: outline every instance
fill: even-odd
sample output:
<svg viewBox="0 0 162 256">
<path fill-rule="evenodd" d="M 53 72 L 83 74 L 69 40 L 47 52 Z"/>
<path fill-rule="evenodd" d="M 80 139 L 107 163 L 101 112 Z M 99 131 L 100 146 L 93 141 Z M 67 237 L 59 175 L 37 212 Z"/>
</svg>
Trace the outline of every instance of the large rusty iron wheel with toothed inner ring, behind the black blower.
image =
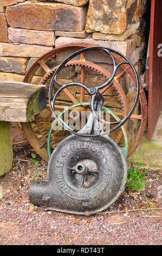
<svg viewBox="0 0 162 256">
<path fill-rule="evenodd" d="M 47 84 L 48 81 L 51 79 L 51 77 L 53 76 L 56 68 L 54 67 L 53 69 L 50 69 L 48 67 L 48 65 L 46 64 L 46 61 L 51 58 L 54 57 L 56 53 L 62 52 L 62 51 L 66 51 L 69 49 L 79 49 L 79 48 L 85 48 L 85 47 L 90 47 L 90 46 L 94 46 L 91 44 L 70 44 L 70 45 L 64 45 L 61 47 L 57 47 L 54 50 L 50 51 L 49 53 L 45 54 L 44 56 L 42 56 L 40 59 L 36 60 L 36 62 L 33 64 L 33 66 L 31 66 L 31 68 L 29 69 L 29 71 L 27 72 L 27 74 L 24 77 L 23 82 L 27 82 L 27 83 L 31 83 L 31 80 L 33 78 L 33 76 L 35 75 L 35 72 L 37 71 L 38 68 L 40 68 L 40 66 L 43 68 L 43 70 L 46 72 L 46 74 L 41 78 L 39 84 Z M 96 46 L 96 45 L 95 45 Z M 115 57 L 116 58 L 116 57 Z M 117 58 L 118 60 L 118 58 Z M 121 61 L 121 59 L 119 59 L 119 61 Z M 88 63 L 85 60 L 85 56 L 83 54 L 81 54 L 81 58 L 80 60 L 77 61 L 72 61 L 67 63 L 67 66 L 81 66 L 81 82 L 85 81 L 85 68 L 88 69 L 93 69 L 96 72 L 100 73 L 100 75 L 102 75 L 105 78 L 109 78 L 111 76 L 111 73 L 108 72 L 106 69 L 103 69 L 101 66 L 96 65 L 94 63 Z M 134 77 L 131 73 L 131 70 L 128 68 L 128 66 L 122 66 L 123 71 L 118 75 L 114 77 L 113 80 L 113 84 L 112 84 L 112 88 L 114 89 L 114 92 L 116 92 L 119 97 L 119 104 L 121 106 L 120 108 L 120 112 L 119 113 L 115 113 L 118 116 L 122 116 L 125 117 L 125 115 L 128 113 L 128 103 L 127 103 L 127 98 L 126 95 L 124 93 L 124 90 L 122 89 L 119 80 L 122 76 L 125 75 L 125 73 L 127 73 L 132 80 L 134 80 Z M 134 149 L 137 147 L 138 143 L 140 142 L 140 139 L 145 131 L 145 127 L 146 127 L 146 122 L 147 122 L 147 102 L 146 102 L 146 97 L 145 97 L 145 93 L 144 90 L 140 84 L 140 106 L 141 106 L 141 115 L 132 115 L 131 118 L 135 118 L 135 119 L 139 119 L 141 120 L 141 124 L 137 133 L 137 137 L 135 138 L 134 142 L 132 144 L 132 147 L 129 149 L 128 151 L 128 156 L 131 155 L 134 151 Z M 104 88 L 100 91 L 100 93 L 102 95 L 104 95 L 107 91 L 109 90 L 109 86 L 107 88 Z M 76 98 L 75 95 L 73 95 L 71 92 L 69 92 L 68 89 L 64 90 L 64 93 L 69 97 L 69 105 L 72 105 L 73 103 L 77 103 L 77 102 L 83 102 L 85 101 L 85 97 L 87 96 L 84 92 L 84 90 L 81 89 L 80 92 L 80 99 L 78 99 L 78 97 Z M 66 105 L 67 106 L 67 105 Z M 63 106 L 62 105 L 57 105 L 58 109 L 62 109 Z M 25 135 L 27 136 L 29 143 L 32 145 L 32 147 L 35 149 L 35 151 L 46 161 L 49 160 L 48 158 L 48 154 L 47 154 L 47 137 L 48 137 L 48 131 L 50 129 L 50 125 L 51 125 L 51 111 L 49 108 L 49 102 L 47 99 L 47 112 L 49 112 L 47 120 L 46 118 L 44 119 L 43 117 L 43 113 L 35 116 L 34 120 L 31 120 L 28 123 L 23 123 L 22 127 L 24 130 Z M 44 111 L 43 111 L 44 112 Z M 50 115 L 50 117 L 49 117 Z M 48 129 L 44 129 L 46 124 L 46 127 L 48 127 Z M 48 125 L 47 125 L 48 124 Z M 126 124 L 127 125 L 127 124 Z M 58 131 L 55 131 L 54 135 L 55 136 L 56 133 L 59 133 Z M 113 134 L 112 134 L 113 136 Z M 120 139 L 122 137 L 122 131 L 119 130 L 118 131 L 118 136 L 115 136 L 115 141 L 117 143 L 120 142 Z M 63 139 L 63 136 L 60 137 L 60 139 Z M 53 148 L 55 148 L 55 145 L 57 143 L 55 143 L 53 140 L 51 140 L 51 146 Z"/>
</svg>

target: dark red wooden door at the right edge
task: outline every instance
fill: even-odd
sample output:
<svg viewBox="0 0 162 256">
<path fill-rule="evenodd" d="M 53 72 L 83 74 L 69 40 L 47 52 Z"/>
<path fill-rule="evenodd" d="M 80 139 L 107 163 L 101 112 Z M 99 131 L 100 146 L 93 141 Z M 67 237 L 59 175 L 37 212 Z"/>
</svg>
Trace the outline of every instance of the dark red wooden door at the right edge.
<svg viewBox="0 0 162 256">
<path fill-rule="evenodd" d="M 150 57 L 148 78 L 148 139 L 151 140 L 162 108 L 162 1 L 151 1 Z"/>
</svg>

